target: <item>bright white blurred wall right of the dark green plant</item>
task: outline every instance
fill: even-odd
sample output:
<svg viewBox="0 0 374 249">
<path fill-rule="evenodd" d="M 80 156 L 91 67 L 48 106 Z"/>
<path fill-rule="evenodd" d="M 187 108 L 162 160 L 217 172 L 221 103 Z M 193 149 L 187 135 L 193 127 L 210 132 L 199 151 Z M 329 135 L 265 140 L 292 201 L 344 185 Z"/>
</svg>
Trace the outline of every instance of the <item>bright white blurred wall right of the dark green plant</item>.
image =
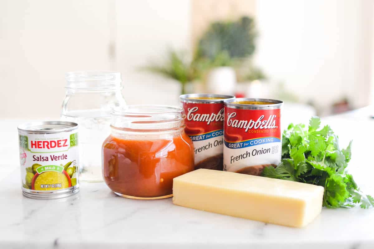
<svg viewBox="0 0 374 249">
<path fill-rule="evenodd" d="M 258 1 L 258 65 L 320 108 L 344 96 L 355 107 L 368 104 L 373 3 Z"/>
</svg>

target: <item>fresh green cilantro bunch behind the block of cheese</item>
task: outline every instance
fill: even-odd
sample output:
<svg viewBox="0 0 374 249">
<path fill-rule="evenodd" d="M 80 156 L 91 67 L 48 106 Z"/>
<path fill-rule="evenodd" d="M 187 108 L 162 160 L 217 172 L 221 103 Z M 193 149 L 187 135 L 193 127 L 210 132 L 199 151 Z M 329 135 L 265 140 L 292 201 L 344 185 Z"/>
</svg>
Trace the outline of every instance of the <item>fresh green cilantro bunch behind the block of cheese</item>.
<svg viewBox="0 0 374 249">
<path fill-rule="evenodd" d="M 310 119 L 307 129 L 303 124 L 290 124 L 283 131 L 281 163 L 264 168 L 263 176 L 323 186 L 323 206 L 328 208 L 357 203 L 361 208 L 374 207 L 374 198 L 363 194 L 347 173 L 352 141 L 340 149 L 331 128 L 325 125 L 319 129 L 320 124 L 318 117 Z"/>
</svg>

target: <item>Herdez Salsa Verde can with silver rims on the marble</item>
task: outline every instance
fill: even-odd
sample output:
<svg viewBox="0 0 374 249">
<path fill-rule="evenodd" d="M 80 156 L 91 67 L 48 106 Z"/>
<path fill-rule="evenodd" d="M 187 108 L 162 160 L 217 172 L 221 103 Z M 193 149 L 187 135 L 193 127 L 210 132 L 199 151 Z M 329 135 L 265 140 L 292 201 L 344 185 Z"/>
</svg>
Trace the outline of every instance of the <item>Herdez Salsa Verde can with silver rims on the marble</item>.
<svg viewBox="0 0 374 249">
<path fill-rule="evenodd" d="M 78 125 L 31 122 L 18 126 L 22 193 L 57 199 L 79 192 Z"/>
</svg>

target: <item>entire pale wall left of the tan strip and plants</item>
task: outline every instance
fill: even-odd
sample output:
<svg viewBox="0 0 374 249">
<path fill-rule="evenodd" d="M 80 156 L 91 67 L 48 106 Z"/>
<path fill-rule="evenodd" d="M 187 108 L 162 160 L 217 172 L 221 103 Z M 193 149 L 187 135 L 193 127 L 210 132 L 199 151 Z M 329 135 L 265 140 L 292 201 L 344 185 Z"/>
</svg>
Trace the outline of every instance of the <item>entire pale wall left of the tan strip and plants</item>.
<svg viewBox="0 0 374 249">
<path fill-rule="evenodd" d="M 0 17 L 0 118 L 58 118 L 75 70 L 122 72 L 131 104 L 177 103 L 177 83 L 137 69 L 188 49 L 189 0 L 2 0 Z"/>
</svg>

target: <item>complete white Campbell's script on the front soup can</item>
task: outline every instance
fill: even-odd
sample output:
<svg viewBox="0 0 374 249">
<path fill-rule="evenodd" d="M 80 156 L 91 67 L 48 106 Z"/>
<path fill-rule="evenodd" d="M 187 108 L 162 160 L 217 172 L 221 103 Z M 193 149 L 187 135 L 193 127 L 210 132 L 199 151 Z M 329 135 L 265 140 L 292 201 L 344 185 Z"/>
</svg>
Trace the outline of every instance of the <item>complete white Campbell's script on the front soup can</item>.
<svg viewBox="0 0 374 249">
<path fill-rule="evenodd" d="M 269 118 L 264 119 L 265 115 L 261 115 L 258 117 L 257 120 L 249 119 L 249 120 L 241 120 L 241 119 L 233 119 L 236 116 L 236 112 L 227 113 L 227 126 L 228 127 L 235 127 L 235 128 L 242 128 L 245 129 L 247 132 L 250 129 L 273 129 L 278 128 L 276 125 L 276 117 L 277 115 L 269 115 Z"/>
</svg>

